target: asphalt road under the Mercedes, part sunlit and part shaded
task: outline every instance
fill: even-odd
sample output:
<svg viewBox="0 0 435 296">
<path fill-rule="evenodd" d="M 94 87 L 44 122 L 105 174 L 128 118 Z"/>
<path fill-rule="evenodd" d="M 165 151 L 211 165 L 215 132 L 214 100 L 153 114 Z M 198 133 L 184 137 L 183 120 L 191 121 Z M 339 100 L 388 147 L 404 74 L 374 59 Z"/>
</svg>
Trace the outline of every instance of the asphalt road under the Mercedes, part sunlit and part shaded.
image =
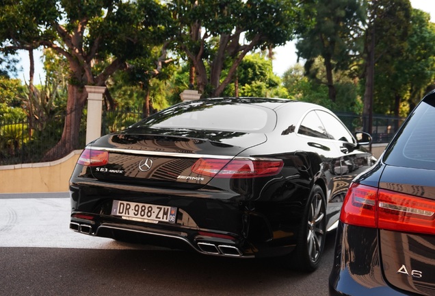
<svg viewBox="0 0 435 296">
<path fill-rule="evenodd" d="M 0 194 L 0 295 L 328 295 L 334 232 L 314 273 L 118 243 L 69 230 L 67 193 Z"/>
</svg>

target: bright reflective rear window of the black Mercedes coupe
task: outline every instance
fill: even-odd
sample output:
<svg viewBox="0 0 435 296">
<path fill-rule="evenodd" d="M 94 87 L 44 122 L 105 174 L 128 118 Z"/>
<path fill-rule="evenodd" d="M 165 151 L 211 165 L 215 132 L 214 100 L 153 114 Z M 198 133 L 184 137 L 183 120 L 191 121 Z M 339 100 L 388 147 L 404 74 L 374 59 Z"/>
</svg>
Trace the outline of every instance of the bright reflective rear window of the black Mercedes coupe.
<svg viewBox="0 0 435 296">
<path fill-rule="evenodd" d="M 197 101 L 163 110 L 133 127 L 266 132 L 273 130 L 275 123 L 276 114 L 261 106 Z"/>
</svg>

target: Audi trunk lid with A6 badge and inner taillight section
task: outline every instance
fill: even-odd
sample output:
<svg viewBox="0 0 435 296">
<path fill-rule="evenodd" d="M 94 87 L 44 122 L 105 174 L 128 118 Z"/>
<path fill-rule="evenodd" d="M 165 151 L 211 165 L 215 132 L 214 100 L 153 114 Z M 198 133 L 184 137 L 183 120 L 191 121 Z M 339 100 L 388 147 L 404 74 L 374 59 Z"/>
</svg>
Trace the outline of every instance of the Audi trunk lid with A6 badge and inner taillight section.
<svg viewBox="0 0 435 296">
<path fill-rule="evenodd" d="M 419 293 L 435 294 L 435 171 L 386 166 L 380 189 L 387 200 L 397 199 L 388 212 L 405 213 L 386 227 L 380 226 L 380 251 L 386 280 L 393 286 Z M 407 185 L 409 184 L 409 185 Z M 393 219 L 389 219 L 393 220 Z M 382 229 L 384 228 L 384 229 Z M 432 233 L 431 233 L 432 232 Z"/>
</svg>

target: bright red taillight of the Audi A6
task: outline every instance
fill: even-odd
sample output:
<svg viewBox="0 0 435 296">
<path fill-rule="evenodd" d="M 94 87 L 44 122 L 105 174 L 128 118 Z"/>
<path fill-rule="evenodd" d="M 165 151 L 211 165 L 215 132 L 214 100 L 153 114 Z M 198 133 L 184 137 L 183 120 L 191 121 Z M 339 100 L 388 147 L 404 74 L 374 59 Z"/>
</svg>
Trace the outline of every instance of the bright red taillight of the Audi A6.
<svg viewBox="0 0 435 296">
<path fill-rule="evenodd" d="M 435 201 L 352 184 L 347 191 L 340 220 L 385 230 L 435 234 Z"/>
</svg>

